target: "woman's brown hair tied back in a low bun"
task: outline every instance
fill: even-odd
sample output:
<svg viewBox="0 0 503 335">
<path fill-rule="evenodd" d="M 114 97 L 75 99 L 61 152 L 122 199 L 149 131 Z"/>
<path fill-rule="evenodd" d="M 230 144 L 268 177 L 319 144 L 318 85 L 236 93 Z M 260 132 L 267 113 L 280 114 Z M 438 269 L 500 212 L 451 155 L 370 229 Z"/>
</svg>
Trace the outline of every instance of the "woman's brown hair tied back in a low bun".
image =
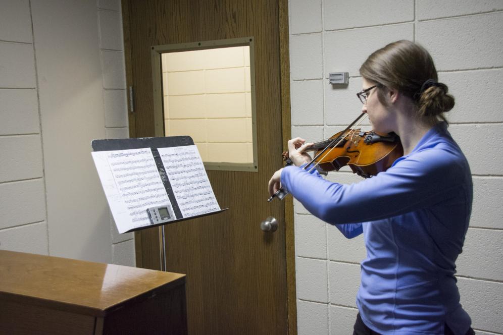
<svg viewBox="0 0 503 335">
<path fill-rule="evenodd" d="M 360 74 L 380 89 L 393 88 L 410 97 L 417 116 L 431 125 L 446 121 L 443 113 L 454 107 L 447 86 L 437 82 L 431 55 L 417 43 L 400 40 L 374 51 L 360 67 Z M 381 90 L 378 96 L 383 101 Z"/>
</svg>

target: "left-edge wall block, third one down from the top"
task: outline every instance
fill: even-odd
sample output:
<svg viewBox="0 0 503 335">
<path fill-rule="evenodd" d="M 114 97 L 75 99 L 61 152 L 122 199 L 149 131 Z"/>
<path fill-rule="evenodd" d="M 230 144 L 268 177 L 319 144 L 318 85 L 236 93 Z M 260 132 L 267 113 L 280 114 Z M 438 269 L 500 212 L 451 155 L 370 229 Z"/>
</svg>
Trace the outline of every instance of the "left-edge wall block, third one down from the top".
<svg viewBox="0 0 503 335">
<path fill-rule="evenodd" d="M 38 134 L 38 99 L 35 90 L 0 90 L 0 135 Z"/>
</svg>

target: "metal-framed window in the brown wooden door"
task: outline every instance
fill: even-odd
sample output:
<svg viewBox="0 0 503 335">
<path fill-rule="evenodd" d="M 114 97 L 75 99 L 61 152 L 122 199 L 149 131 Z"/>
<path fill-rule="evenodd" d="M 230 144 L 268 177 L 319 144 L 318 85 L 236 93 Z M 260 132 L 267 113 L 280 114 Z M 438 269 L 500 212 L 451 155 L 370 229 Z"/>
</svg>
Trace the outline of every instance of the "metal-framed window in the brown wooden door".
<svg viewBox="0 0 503 335">
<path fill-rule="evenodd" d="M 258 169 L 253 39 L 243 42 L 164 45 L 153 52 L 161 66 L 156 98 L 162 100 L 163 135 L 191 136 L 209 170 Z"/>
</svg>

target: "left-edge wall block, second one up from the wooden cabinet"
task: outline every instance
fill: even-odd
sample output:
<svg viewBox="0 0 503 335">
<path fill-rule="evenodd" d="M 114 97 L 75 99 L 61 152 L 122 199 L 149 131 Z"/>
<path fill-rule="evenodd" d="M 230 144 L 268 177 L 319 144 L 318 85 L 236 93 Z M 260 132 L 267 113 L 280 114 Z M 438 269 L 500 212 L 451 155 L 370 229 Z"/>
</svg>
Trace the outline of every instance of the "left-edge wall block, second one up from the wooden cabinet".
<svg viewBox="0 0 503 335">
<path fill-rule="evenodd" d="M 0 213 L 0 229 L 45 220 L 43 180 L 0 184 Z"/>
</svg>

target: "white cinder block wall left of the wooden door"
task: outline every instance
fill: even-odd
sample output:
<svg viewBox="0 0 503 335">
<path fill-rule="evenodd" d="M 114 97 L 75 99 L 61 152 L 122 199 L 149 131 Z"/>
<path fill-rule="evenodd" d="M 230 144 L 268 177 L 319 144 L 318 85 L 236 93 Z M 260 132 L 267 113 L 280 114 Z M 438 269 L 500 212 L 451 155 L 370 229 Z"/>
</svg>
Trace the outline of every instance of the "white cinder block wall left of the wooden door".
<svg viewBox="0 0 503 335">
<path fill-rule="evenodd" d="M 0 0 L 0 249 L 133 265 L 92 139 L 128 137 L 120 0 Z"/>
</svg>

